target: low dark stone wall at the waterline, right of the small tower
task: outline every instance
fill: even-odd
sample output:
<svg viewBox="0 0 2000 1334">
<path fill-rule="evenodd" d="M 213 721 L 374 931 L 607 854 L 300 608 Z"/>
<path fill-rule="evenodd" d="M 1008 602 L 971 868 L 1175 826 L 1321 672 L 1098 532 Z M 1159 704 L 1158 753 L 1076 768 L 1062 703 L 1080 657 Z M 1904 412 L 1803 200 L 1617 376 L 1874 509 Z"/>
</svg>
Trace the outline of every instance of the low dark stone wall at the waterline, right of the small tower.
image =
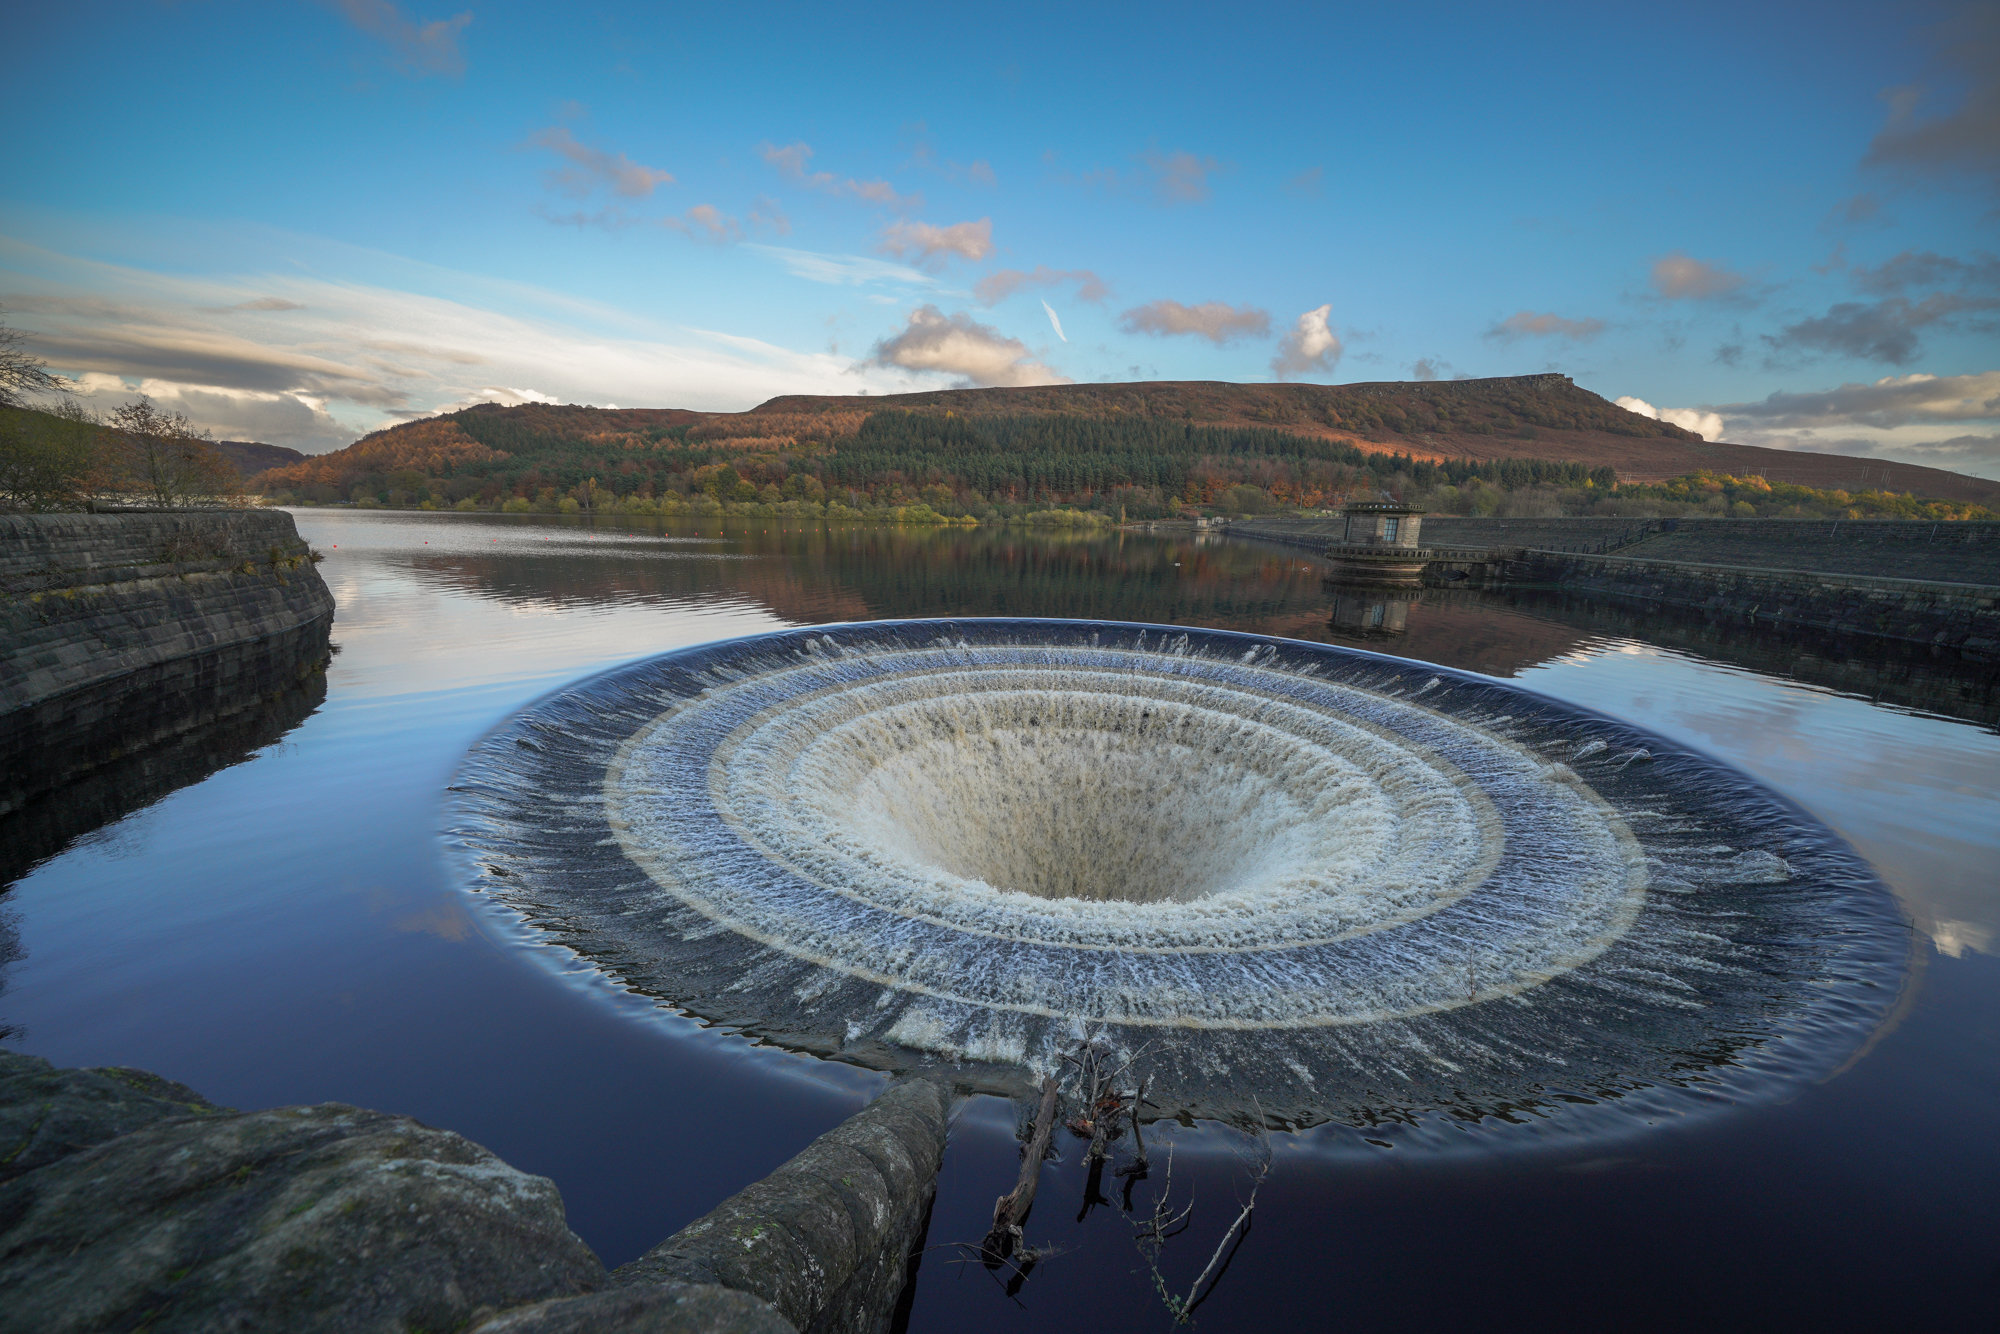
<svg viewBox="0 0 2000 1334">
<path fill-rule="evenodd" d="M 1770 626 L 1930 644 L 1974 660 L 2000 658 L 2000 586 L 1574 552 L 1526 552 L 1496 574 L 1508 584 L 1698 608 Z"/>
</svg>

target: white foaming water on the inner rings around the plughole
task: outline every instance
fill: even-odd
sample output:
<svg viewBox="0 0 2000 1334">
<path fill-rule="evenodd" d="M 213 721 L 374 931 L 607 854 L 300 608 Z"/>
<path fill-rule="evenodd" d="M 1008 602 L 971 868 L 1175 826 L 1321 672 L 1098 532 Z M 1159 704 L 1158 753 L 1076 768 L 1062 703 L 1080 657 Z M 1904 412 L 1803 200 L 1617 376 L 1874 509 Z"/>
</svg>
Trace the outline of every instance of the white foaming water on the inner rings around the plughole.
<svg viewBox="0 0 2000 1334">
<path fill-rule="evenodd" d="M 942 648 L 706 690 L 608 766 L 608 820 L 662 890 L 816 966 L 1086 1022 L 1474 1004 L 1588 962 L 1640 908 L 1624 822 L 1512 742 L 1330 684 L 1284 698 L 1296 678 L 1244 664 L 1188 680 L 1120 650 L 1066 658 Z M 1338 974 L 1294 958 L 1488 886 L 1510 820 L 1514 876 L 1472 918 Z M 984 940 L 914 948 L 912 924 Z"/>
</svg>

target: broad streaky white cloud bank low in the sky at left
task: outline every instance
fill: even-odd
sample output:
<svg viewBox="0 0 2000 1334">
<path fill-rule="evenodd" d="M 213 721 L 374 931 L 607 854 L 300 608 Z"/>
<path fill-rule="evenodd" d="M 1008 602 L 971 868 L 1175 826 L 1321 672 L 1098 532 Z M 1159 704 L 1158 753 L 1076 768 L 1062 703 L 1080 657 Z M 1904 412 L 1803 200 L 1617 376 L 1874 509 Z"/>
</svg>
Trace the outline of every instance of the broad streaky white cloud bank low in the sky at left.
<svg viewBox="0 0 2000 1334">
<path fill-rule="evenodd" d="M 484 284 L 494 300 L 472 302 L 298 274 L 186 278 L 4 238 L 0 272 L 10 322 L 54 370 L 88 376 L 110 398 L 146 392 L 220 438 L 308 452 L 506 394 L 742 410 L 786 392 L 922 386 L 894 366 L 658 324 L 522 284 Z M 252 302 L 262 304 L 232 310 Z M 560 314 L 520 314 L 530 308 Z"/>
</svg>

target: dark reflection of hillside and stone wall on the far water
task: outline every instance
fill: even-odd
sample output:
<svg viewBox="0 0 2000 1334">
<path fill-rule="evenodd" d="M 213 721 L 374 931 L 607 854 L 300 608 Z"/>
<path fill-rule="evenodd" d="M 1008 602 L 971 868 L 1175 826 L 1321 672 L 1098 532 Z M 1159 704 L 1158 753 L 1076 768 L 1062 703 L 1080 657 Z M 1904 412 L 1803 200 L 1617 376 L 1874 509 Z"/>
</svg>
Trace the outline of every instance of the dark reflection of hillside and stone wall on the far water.
<svg viewBox="0 0 2000 1334">
<path fill-rule="evenodd" d="M 438 554 L 418 558 L 416 570 L 474 596 L 536 606 L 730 600 L 754 602 L 802 624 L 892 616 L 1150 620 L 1350 642 L 1490 676 L 1516 676 L 1592 638 L 1618 636 L 1886 704 L 1986 724 L 2000 720 L 1990 664 L 1916 646 L 1774 632 L 1698 612 L 1638 610 L 1568 594 L 1424 588 L 1410 606 L 1394 608 L 1404 632 L 1378 638 L 1378 626 L 1360 624 L 1368 606 L 1354 608 L 1360 622 L 1340 620 L 1342 590 L 1322 584 L 1322 562 L 1252 542 L 824 524 L 676 524 L 662 532 L 718 540 Z M 1384 608 L 1384 620 L 1388 616 Z"/>
</svg>

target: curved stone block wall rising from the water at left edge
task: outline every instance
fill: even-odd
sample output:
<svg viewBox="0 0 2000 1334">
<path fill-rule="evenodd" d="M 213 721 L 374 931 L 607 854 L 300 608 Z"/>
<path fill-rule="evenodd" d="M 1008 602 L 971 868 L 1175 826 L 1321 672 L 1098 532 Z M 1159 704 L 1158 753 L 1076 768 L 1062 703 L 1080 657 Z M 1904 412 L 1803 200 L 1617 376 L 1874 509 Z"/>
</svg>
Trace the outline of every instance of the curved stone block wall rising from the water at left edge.
<svg viewBox="0 0 2000 1334">
<path fill-rule="evenodd" d="M 0 814 L 296 688 L 332 616 L 282 510 L 0 514 Z"/>
</svg>

